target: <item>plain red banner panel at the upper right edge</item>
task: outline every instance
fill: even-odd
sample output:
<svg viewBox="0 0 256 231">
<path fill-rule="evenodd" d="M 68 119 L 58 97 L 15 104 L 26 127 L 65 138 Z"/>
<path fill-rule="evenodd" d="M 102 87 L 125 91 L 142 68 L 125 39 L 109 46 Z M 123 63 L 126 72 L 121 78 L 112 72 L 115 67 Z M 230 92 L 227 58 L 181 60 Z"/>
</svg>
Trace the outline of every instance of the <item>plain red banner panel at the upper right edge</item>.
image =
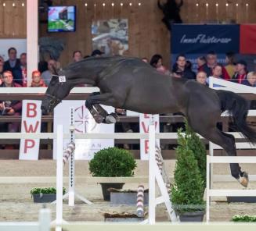
<svg viewBox="0 0 256 231">
<path fill-rule="evenodd" d="M 256 54 L 256 25 L 240 25 L 240 54 Z"/>
</svg>

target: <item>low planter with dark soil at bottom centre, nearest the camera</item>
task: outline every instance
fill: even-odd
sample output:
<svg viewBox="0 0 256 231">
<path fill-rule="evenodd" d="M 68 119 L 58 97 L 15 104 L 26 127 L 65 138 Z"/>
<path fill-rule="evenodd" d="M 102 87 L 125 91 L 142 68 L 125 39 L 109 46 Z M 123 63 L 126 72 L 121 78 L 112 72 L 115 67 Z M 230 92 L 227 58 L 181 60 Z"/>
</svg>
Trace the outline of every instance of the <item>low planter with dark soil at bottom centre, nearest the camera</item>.
<svg viewBox="0 0 256 231">
<path fill-rule="evenodd" d="M 104 214 L 105 222 L 142 222 L 144 218 L 140 218 L 135 214 Z"/>
</svg>

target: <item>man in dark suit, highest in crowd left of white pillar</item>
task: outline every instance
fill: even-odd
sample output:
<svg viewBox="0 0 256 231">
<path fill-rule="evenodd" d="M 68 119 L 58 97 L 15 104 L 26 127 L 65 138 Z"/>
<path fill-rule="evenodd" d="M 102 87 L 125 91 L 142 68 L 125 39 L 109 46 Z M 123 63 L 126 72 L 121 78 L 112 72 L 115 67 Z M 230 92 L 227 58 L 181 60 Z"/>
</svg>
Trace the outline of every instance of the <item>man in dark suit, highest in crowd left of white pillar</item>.
<svg viewBox="0 0 256 231">
<path fill-rule="evenodd" d="M 13 73 L 13 80 L 22 85 L 22 72 L 20 68 L 20 59 L 17 59 L 16 48 L 8 49 L 9 59 L 4 63 L 4 71 L 9 70 Z"/>
</svg>

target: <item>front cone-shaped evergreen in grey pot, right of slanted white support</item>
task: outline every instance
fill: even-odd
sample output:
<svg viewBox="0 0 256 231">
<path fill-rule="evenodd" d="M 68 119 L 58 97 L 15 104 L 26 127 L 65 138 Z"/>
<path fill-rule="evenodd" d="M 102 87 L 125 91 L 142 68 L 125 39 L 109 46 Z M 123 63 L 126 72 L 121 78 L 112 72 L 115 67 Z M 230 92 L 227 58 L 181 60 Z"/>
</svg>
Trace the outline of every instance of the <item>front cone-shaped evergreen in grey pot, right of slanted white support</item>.
<svg viewBox="0 0 256 231">
<path fill-rule="evenodd" d="M 201 222 L 204 219 L 204 179 L 197 159 L 189 147 L 189 134 L 178 130 L 177 162 L 171 202 L 181 222 Z"/>
</svg>

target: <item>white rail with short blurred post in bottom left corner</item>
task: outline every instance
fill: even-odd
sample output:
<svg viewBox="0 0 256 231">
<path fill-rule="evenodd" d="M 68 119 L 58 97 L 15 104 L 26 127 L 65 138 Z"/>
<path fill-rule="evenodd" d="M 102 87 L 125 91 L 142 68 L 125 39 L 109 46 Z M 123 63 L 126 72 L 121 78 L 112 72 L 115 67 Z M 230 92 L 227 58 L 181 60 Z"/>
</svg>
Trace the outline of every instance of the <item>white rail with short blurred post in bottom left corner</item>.
<svg viewBox="0 0 256 231">
<path fill-rule="evenodd" d="M 0 222 L 1 231 L 50 231 L 51 211 L 49 208 L 39 210 L 38 222 Z"/>
</svg>

